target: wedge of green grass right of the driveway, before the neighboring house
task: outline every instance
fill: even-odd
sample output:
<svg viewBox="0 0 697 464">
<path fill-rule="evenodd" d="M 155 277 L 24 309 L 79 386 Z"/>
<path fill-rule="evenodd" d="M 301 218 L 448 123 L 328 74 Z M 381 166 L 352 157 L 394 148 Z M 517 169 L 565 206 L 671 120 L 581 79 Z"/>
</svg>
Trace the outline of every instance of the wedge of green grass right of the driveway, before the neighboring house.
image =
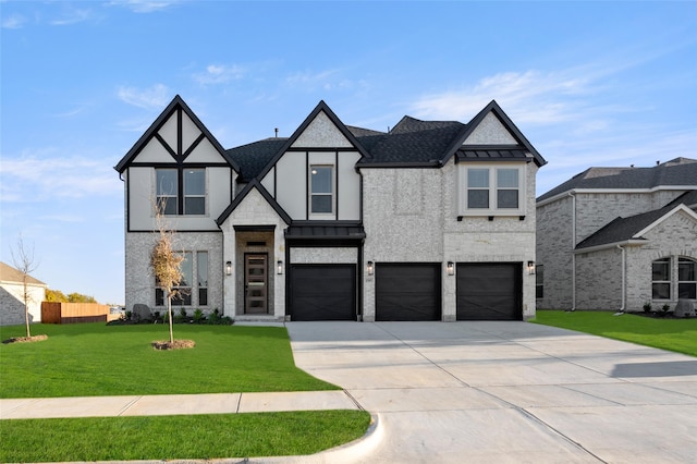
<svg viewBox="0 0 697 464">
<path fill-rule="evenodd" d="M 697 357 L 697 318 L 662 319 L 608 312 L 538 310 L 531 322 L 674 351 Z"/>
</svg>

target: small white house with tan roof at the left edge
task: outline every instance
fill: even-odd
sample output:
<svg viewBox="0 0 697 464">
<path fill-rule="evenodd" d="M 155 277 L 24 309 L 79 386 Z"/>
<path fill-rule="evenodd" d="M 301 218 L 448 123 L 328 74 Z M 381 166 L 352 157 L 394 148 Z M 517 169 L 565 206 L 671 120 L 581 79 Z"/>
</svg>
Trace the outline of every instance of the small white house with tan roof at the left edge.
<svg viewBox="0 0 697 464">
<path fill-rule="evenodd" d="M 46 283 L 27 276 L 29 323 L 41 321 L 41 302 L 46 300 Z M 24 274 L 0 262 L 0 326 L 25 322 Z"/>
</svg>

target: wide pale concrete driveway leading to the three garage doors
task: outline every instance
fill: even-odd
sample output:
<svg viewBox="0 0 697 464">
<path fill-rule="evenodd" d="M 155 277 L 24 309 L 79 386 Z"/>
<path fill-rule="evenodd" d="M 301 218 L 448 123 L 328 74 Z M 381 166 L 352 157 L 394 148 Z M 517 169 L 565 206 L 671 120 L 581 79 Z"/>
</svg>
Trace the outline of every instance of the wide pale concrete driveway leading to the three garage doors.
<svg viewBox="0 0 697 464">
<path fill-rule="evenodd" d="M 690 356 L 527 322 L 286 327 L 298 367 L 378 416 L 351 462 L 697 463 Z"/>
</svg>

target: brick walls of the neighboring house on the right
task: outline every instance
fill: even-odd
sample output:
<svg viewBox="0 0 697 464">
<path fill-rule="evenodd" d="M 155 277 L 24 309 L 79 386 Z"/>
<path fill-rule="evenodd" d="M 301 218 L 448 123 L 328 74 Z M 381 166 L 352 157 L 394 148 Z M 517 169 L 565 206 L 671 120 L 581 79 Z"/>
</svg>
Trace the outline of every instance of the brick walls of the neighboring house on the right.
<svg viewBox="0 0 697 464">
<path fill-rule="evenodd" d="M 652 193 L 576 193 L 576 215 L 573 199 L 562 196 L 537 207 L 537 259 L 545 266 L 545 297 L 540 308 L 573 307 L 573 224 L 576 241 L 582 242 L 617 217 L 629 217 L 657 209 L 684 191 Z M 651 261 L 678 256 L 697 259 L 697 225 L 692 217 L 681 212 L 647 233 L 641 246 L 625 247 L 626 310 L 641 310 L 651 302 Z M 610 309 L 622 307 L 622 253 L 617 248 L 579 253 L 575 256 L 577 309 Z M 673 274 L 677 272 L 673 270 Z M 676 283 L 674 283 L 676 285 Z M 675 300 L 675 298 L 673 298 Z M 665 302 L 653 302 L 655 306 Z M 669 303 L 675 303 L 671 301 Z"/>
</svg>

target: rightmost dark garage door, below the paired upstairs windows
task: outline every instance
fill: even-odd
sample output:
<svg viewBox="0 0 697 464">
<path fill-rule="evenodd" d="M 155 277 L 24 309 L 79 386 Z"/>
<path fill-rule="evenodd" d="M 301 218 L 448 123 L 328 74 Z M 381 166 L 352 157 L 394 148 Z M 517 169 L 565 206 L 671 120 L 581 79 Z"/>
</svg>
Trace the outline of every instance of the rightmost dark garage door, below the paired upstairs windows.
<svg viewBox="0 0 697 464">
<path fill-rule="evenodd" d="M 457 320 L 522 320 L 521 264 L 457 264 Z"/>
</svg>

